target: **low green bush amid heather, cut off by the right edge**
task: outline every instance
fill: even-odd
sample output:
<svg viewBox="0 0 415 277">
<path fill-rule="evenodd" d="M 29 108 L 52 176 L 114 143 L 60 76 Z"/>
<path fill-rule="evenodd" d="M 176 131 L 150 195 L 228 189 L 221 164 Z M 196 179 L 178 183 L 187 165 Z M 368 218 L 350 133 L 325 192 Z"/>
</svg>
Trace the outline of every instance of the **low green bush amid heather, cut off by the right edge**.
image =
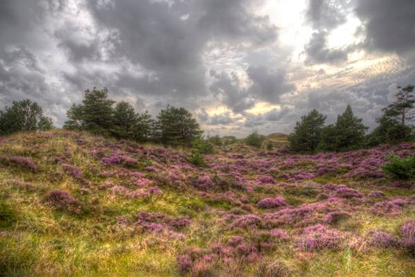
<svg viewBox="0 0 415 277">
<path fill-rule="evenodd" d="M 394 179 L 412 179 L 415 177 L 415 155 L 400 158 L 391 153 L 388 156 L 389 163 L 382 166 L 383 172 Z"/>
</svg>

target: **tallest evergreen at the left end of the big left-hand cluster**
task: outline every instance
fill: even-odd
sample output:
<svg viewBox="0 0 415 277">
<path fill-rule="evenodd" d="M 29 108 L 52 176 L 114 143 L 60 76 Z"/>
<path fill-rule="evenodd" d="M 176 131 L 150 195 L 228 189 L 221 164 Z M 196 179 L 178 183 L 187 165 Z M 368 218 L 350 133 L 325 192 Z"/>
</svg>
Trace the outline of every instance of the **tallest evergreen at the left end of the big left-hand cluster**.
<svg viewBox="0 0 415 277">
<path fill-rule="evenodd" d="M 66 129 L 82 129 L 93 134 L 109 136 L 114 128 L 115 101 L 108 99 L 107 89 L 87 89 L 81 105 L 73 105 L 67 111 Z"/>
</svg>

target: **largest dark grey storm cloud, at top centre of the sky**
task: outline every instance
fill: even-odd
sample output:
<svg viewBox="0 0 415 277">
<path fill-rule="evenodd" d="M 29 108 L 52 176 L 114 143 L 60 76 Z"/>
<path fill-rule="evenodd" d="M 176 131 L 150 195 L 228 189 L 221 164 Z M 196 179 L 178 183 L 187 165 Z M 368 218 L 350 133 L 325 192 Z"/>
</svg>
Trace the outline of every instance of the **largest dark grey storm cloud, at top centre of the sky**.
<svg viewBox="0 0 415 277">
<path fill-rule="evenodd" d="M 118 74 L 118 87 L 139 84 L 143 93 L 188 98 L 207 93 L 201 59 L 207 42 L 276 39 L 276 27 L 249 11 L 250 2 L 126 0 L 90 8 L 100 26 L 118 32 L 115 57 L 126 56 L 157 77 Z"/>
</svg>

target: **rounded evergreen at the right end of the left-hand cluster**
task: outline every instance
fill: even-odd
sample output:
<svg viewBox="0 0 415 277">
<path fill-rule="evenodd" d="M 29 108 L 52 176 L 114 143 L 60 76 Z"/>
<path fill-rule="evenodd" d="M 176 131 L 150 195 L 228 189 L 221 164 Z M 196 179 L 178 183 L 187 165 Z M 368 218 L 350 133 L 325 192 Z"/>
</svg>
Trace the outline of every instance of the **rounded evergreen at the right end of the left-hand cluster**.
<svg viewBox="0 0 415 277">
<path fill-rule="evenodd" d="M 190 111 L 168 105 L 157 116 L 157 138 L 169 145 L 191 145 L 202 134 Z"/>
</svg>

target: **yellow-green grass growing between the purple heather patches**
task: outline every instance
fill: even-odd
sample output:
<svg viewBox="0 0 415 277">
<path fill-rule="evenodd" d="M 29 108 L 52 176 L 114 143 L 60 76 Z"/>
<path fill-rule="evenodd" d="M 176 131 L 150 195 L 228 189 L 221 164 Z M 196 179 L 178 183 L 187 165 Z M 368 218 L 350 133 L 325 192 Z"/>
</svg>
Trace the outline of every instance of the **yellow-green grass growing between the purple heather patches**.
<svg viewBox="0 0 415 277">
<path fill-rule="evenodd" d="M 80 139 L 85 143 L 80 144 Z M 106 168 L 85 145 L 104 142 L 108 143 L 87 134 L 66 136 L 64 132 L 54 131 L 17 134 L 0 144 L 0 155 L 31 157 L 39 166 L 38 172 L 15 166 L 0 168 L 0 276 L 182 276 L 176 263 L 176 256 L 182 249 L 189 246 L 204 249 L 230 235 L 254 235 L 224 228 L 215 211 L 226 213 L 236 208 L 226 199 L 212 201 L 200 197 L 194 190 L 168 185 L 161 187 L 162 195 L 147 199 L 114 197 L 98 190 L 96 185 L 105 178 L 98 177 L 96 171 Z M 56 157 L 64 157 L 68 163 L 82 169 L 91 182 L 86 186 L 89 193 L 82 193 L 85 185 L 64 172 L 55 162 Z M 142 159 L 130 170 L 142 171 L 150 164 L 157 165 L 157 161 Z M 299 166 L 310 166 L 310 163 L 303 162 Z M 252 172 L 247 172 L 247 177 L 255 179 Z M 13 184 L 15 179 L 29 182 L 33 188 Z M 326 175 L 311 180 L 318 184 L 350 183 L 359 188 L 348 179 Z M 125 179 L 114 177 L 114 181 L 133 187 Z M 45 193 L 53 189 L 68 190 L 80 202 L 81 212 L 61 211 L 44 202 Z M 372 190 L 367 186 L 361 191 L 365 189 Z M 413 188 L 383 191 L 390 197 L 415 194 Z M 248 205 L 258 211 L 254 205 L 259 199 L 283 195 L 288 204 L 299 206 L 316 202 L 318 194 L 317 186 L 257 186 L 254 195 L 248 195 Z M 210 208 L 205 209 L 206 205 Z M 116 224 L 116 217 L 133 221 L 140 211 L 191 217 L 191 226 L 183 232 L 186 240 L 142 233 L 132 226 Z M 337 228 L 360 234 L 371 229 L 397 233 L 400 224 L 414 217 L 413 207 L 398 217 L 377 217 L 357 211 L 353 219 L 340 222 Z M 281 243 L 267 252 L 267 258 L 285 265 L 289 276 L 415 276 L 414 258 L 399 250 L 358 251 L 346 247 L 342 251 L 301 253 L 291 244 Z M 244 276 L 257 276 L 258 265 L 240 267 Z M 218 265 L 218 270 L 231 269 Z"/>
</svg>

